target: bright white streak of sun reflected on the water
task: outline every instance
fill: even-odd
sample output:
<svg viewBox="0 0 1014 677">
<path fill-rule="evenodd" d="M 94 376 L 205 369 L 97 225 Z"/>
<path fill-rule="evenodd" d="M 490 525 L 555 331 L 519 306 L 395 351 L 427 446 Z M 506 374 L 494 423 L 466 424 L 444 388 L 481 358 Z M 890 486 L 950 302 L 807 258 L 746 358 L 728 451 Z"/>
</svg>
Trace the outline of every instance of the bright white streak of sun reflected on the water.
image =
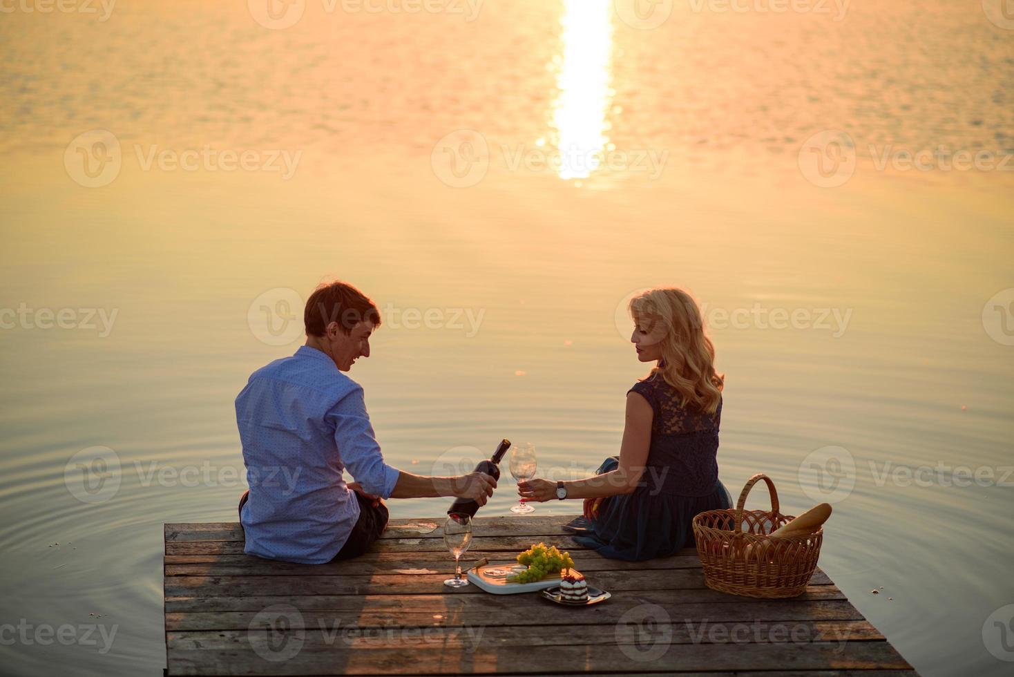
<svg viewBox="0 0 1014 677">
<path fill-rule="evenodd" d="M 587 178 L 608 144 L 606 112 L 612 98 L 611 0 L 566 0 L 560 95 L 554 102 L 554 145 L 560 152 L 561 178 Z"/>
</svg>

